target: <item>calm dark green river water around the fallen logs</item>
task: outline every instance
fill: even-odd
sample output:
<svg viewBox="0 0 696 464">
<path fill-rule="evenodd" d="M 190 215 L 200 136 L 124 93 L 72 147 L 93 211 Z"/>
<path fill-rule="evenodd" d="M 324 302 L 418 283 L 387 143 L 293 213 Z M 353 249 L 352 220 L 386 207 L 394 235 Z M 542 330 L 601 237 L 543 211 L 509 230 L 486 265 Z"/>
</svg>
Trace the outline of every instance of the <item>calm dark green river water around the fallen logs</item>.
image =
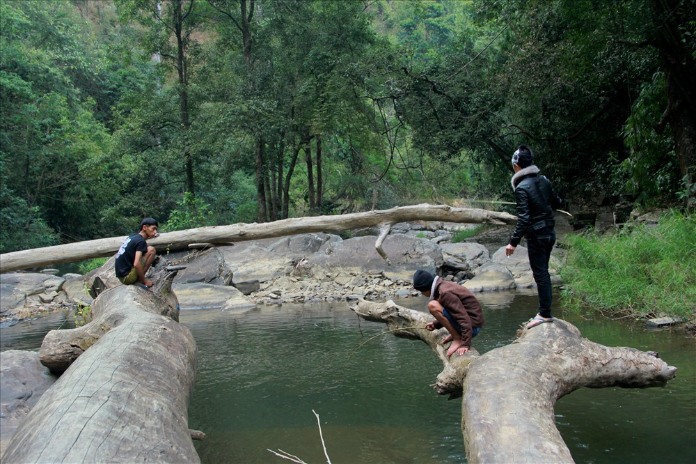
<svg viewBox="0 0 696 464">
<path fill-rule="evenodd" d="M 480 353 L 504 346 L 535 314 L 535 295 L 482 294 Z M 422 309 L 425 298 L 395 300 Z M 555 300 L 557 302 L 557 299 Z M 557 304 L 557 303 L 556 303 Z M 683 332 L 641 323 L 555 315 L 608 346 L 655 350 L 677 366 L 665 388 L 580 389 L 557 402 L 557 426 L 577 463 L 696 462 L 696 348 Z M 0 350 L 38 349 L 47 330 L 72 327 L 54 313 L 0 330 Z M 182 311 L 198 344 L 189 427 L 206 433 L 203 463 L 464 463 L 461 399 L 430 384 L 441 362 L 420 341 L 358 320 L 345 302 L 247 311 Z M 357 348 L 357 349 L 356 349 Z M 534 438 L 530 437 L 530 442 Z"/>
</svg>

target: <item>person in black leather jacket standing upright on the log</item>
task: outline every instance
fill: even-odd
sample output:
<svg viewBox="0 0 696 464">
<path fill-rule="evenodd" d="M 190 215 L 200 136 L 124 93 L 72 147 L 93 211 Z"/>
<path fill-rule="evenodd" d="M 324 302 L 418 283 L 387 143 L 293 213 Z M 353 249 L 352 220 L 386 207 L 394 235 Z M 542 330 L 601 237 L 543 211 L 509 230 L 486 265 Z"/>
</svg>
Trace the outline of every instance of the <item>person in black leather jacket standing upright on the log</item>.
<svg viewBox="0 0 696 464">
<path fill-rule="evenodd" d="M 527 328 L 553 322 L 551 316 L 551 276 L 548 274 L 548 260 L 556 242 L 553 230 L 553 210 L 562 206 L 562 199 L 553 190 L 551 181 L 539 174 L 539 168 L 532 164 L 534 153 L 525 145 L 520 145 L 512 155 L 512 188 L 517 202 L 517 225 L 505 247 L 505 255 L 511 256 L 523 237 L 527 238 L 527 252 L 532 276 L 537 283 L 539 312 L 530 319 Z"/>
</svg>

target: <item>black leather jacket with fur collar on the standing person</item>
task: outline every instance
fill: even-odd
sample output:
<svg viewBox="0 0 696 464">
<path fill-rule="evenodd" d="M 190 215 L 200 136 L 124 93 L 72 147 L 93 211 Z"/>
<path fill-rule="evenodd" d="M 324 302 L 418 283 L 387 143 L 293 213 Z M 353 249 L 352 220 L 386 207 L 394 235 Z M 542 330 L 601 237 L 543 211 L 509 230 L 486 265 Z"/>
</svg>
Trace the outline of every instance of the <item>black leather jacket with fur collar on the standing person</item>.
<svg viewBox="0 0 696 464">
<path fill-rule="evenodd" d="M 553 190 L 551 181 L 541 176 L 533 164 L 512 176 L 512 188 L 517 201 L 517 225 L 509 244 L 516 247 L 529 233 L 553 229 L 553 210 L 560 208 L 563 201 Z"/>
</svg>

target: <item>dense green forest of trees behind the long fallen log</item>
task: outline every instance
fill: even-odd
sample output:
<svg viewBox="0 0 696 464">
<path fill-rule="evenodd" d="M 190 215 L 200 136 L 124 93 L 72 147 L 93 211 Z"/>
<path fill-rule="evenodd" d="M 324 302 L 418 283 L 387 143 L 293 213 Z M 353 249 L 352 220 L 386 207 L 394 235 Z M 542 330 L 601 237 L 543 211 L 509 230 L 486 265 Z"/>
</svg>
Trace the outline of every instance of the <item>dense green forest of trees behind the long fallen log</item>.
<svg viewBox="0 0 696 464">
<path fill-rule="evenodd" d="M 0 0 L 0 252 L 509 201 L 693 208 L 696 0 Z M 480 206 L 480 205 L 476 205 Z"/>
</svg>

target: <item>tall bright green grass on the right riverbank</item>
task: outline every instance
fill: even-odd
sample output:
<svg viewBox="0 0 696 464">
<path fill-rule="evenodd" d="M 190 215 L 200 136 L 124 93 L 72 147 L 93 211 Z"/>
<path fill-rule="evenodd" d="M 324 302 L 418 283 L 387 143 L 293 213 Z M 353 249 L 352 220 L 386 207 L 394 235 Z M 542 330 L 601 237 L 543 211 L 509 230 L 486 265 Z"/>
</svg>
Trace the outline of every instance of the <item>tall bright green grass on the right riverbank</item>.
<svg viewBox="0 0 696 464">
<path fill-rule="evenodd" d="M 696 317 L 696 216 L 671 212 L 654 229 L 567 235 L 564 307 Z"/>
</svg>

